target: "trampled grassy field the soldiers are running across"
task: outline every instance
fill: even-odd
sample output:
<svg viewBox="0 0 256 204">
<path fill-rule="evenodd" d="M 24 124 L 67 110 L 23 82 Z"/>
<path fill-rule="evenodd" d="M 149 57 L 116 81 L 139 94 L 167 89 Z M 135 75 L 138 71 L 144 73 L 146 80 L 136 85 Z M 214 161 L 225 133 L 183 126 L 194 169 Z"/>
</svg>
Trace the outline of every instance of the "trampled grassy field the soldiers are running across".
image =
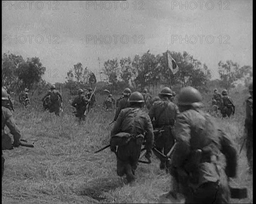
<svg viewBox="0 0 256 204">
<path fill-rule="evenodd" d="M 244 131 L 244 94 L 232 95 L 236 104 L 233 118 L 218 123 L 241 145 Z M 96 95 L 98 104 L 103 97 Z M 117 96 L 116 96 L 117 98 Z M 151 164 L 140 164 L 133 185 L 116 175 L 116 158 L 105 149 L 93 152 L 109 143 L 114 111 L 97 108 L 84 123 L 78 124 L 72 114 L 68 97 L 64 97 L 64 112 L 58 118 L 43 112 L 40 101 L 32 101 L 29 109 L 18 106 L 14 117 L 22 135 L 35 148 L 19 147 L 3 151 L 5 172 L 2 181 L 3 204 L 85 204 L 85 203 L 158 203 L 160 195 L 169 191 L 172 178 L 159 169 L 152 155 Z M 210 96 L 204 97 L 205 102 Z M 253 202 L 253 178 L 247 173 L 247 159 L 239 156 L 238 176 L 234 185 L 247 187 L 248 198 L 233 203 Z M 166 203 L 171 201 L 166 201 Z"/>
</svg>

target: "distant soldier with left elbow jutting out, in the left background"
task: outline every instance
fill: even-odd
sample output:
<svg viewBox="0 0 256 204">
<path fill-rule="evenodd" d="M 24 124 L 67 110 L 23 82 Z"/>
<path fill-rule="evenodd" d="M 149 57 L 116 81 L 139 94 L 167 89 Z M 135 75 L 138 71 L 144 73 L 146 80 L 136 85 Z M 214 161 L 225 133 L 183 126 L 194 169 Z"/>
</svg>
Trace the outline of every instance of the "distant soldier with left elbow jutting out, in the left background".
<svg viewBox="0 0 256 204">
<path fill-rule="evenodd" d="M 55 85 L 51 86 L 51 90 L 44 96 L 42 101 L 44 101 L 48 96 L 50 96 L 49 112 L 55 112 L 55 115 L 60 116 L 62 96 L 60 92 L 56 90 Z"/>
</svg>

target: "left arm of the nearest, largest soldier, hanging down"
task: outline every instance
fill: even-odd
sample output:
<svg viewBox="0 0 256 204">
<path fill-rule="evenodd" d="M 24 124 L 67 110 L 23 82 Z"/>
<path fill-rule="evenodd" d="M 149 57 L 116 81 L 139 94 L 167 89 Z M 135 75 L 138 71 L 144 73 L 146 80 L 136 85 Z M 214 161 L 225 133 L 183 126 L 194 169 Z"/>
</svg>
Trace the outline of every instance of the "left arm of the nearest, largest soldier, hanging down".
<svg viewBox="0 0 256 204">
<path fill-rule="evenodd" d="M 175 127 L 176 148 L 173 152 L 174 167 L 182 167 L 190 153 L 190 125 L 183 114 L 177 116 Z"/>
</svg>

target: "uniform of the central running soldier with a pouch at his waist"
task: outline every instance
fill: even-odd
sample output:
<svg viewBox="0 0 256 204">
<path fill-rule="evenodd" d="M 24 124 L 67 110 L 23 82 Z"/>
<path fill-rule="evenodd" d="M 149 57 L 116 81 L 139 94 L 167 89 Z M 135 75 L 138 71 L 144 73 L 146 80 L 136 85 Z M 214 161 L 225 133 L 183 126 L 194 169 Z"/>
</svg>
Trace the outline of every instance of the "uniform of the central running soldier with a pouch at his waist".
<svg viewBox="0 0 256 204">
<path fill-rule="evenodd" d="M 116 124 L 111 131 L 111 137 L 119 132 L 127 132 L 133 135 L 133 138 L 127 145 L 118 147 L 117 149 L 117 175 L 127 175 L 127 180 L 134 180 L 135 170 L 137 169 L 138 160 L 140 158 L 143 135 L 145 132 L 146 150 L 150 152 L 153 146 L 154 136 L 153 127 L 148 115 L 140 108 L 125 108 L 122 109 Z M 111 140 L 111 145 L 113 141 Z"/>
</svg>

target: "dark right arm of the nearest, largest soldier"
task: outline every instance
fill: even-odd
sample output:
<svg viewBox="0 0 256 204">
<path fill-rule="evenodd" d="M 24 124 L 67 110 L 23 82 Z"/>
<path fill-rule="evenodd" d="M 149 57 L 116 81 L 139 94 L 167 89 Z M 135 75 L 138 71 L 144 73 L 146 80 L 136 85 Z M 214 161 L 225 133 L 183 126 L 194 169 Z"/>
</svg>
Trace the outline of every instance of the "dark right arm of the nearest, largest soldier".
<svg viewBox="0 0 256 204">
<path fill-rule="evenodd" d="M 233 144 L 233 141 L 223 132 L 221 129 L 218 129 L 220 143 L 221 143 L 221 152 L 225 155 L 226 158 L 226 169 L 225 172 L 228 177 L 236 177 L 237 170 L 237 153 L 236 148 Z"/>
</svg>

